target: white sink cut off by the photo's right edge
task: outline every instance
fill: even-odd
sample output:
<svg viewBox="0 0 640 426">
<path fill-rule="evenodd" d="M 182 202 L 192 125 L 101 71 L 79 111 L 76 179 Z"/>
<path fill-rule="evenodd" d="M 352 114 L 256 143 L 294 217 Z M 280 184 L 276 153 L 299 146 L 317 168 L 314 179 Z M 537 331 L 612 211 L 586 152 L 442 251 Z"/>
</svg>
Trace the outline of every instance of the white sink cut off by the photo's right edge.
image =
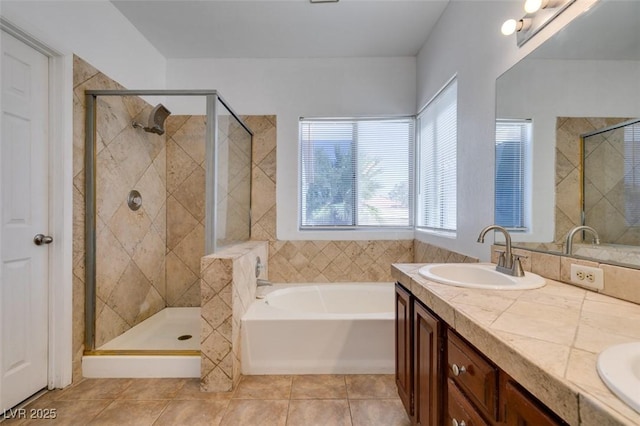
<svg viewBox="0 0 640 426">
<path fill-rule="evenodd" d="M 605 349 L 596 365 L 611 392 L 640 413 L 640 342 Z"/>
</svg>

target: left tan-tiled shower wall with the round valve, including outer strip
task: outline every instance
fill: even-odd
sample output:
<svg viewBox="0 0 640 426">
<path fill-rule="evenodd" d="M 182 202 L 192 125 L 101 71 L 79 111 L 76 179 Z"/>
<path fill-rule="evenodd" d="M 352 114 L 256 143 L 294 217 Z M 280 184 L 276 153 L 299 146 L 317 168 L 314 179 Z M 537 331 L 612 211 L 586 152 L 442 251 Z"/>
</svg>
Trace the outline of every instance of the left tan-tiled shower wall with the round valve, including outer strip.
<svg viewBox="0 0 640 426">
<path fill-rule="evenodd" d="M 73 136 L 73 377 L 84 351 L 84 138 L 86 89 L 124 89 L 74 57 Z M 97 104 L 97 306 L 100 345 L 164 307 L 165 140 L 131 127 L 150 106 L 135 97 L 101 97 Z M 131 211 L 131 189 L 143 207 Z"/>
</svg>

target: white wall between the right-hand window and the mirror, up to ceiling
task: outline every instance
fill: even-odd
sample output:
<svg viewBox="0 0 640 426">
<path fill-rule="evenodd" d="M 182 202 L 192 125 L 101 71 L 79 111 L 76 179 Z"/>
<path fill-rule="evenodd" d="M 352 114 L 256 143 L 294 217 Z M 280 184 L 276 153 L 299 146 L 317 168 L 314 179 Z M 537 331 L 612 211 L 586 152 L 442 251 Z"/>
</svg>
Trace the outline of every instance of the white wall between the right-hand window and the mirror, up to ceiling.
<svg viewBox="0 0 640 426">
<path fill-rule="evenodd" d="M 550 35 L 585 10 L 577 0 L 522 48 L 515 35 L 500 33 L 502 22 L 524 15 L 524 1 L 452 1 L 418 54 L 417 108 L 453 75 L 458 79 L 458 229 L 455 238 L 423 231 L 416 238 L 489 260 L 480 230 L 493 223 L 495 82 Z"/>
</svg>

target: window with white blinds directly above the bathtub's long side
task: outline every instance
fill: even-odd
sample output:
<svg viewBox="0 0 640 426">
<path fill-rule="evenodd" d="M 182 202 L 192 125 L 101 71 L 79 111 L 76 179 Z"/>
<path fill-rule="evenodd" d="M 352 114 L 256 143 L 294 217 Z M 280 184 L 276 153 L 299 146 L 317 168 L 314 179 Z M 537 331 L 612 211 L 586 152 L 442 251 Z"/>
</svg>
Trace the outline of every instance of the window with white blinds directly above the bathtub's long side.
<svg viewBox="0 0 640 426">
<path fill-rule="evenodd" d="M 301 119 L 301 229 L 412 225 L 414 120 Z"/>
</svg>

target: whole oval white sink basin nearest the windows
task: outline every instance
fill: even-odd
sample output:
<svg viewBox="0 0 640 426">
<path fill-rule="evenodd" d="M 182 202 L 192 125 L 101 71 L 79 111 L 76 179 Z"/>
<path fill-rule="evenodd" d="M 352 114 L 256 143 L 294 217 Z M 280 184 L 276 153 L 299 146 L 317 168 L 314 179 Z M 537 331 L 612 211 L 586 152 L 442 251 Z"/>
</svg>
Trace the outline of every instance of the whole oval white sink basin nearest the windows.
<svg viewBox="0 0 640 426">
<path fill-rule="evenodd" d="M 491 290 L 529 290 L 546 284 L 544 278 L 531 272 L 525 272 L 524 277 L 503 274 L 492 263 L 432 263 L 418 273 L 442 284 Z"/>
</svg>

